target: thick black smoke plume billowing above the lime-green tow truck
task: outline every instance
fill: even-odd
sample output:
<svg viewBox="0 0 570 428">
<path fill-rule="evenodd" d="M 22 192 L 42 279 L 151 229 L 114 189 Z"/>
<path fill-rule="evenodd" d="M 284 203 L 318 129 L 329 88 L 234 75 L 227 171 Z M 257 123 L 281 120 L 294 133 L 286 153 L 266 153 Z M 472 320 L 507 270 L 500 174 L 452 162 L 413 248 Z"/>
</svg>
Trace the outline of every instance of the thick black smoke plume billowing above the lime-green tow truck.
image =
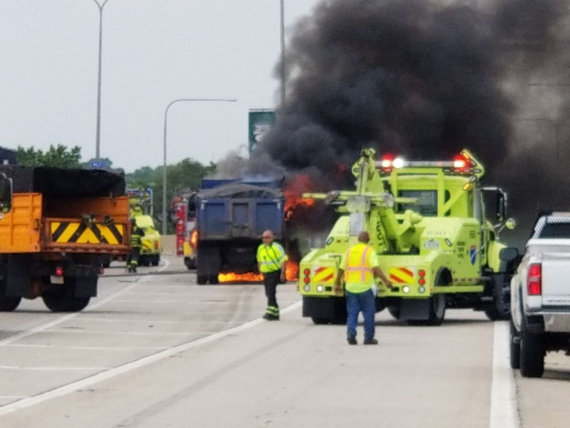
<svg viewBox="0 0 570 428">
<path fill-rule="evenodd" d="M 327 190 L 351 185 L 363 147 L 421 160 L 467 147 L 526 238 L 538 209 L 570 208 L 570 175 L 548 167 L 570 160 L 567 20 L 567 0 L 323 1 L 296 25 L 286 102 L 247 170 Z"/>
</svg>

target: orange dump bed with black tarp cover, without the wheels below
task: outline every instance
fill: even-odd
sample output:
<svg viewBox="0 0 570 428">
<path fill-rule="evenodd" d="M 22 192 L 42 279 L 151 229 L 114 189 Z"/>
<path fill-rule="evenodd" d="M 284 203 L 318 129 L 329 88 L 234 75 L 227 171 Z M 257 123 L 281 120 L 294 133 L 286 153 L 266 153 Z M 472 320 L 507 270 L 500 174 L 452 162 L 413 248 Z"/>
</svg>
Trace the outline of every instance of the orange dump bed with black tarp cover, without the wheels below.
<svg viewBox="0 0 570 428">
<path fill-rule="evenodd" d="M 13 209 L 0 221 L 1 253 L 128 252 L 124 177 L 89 169 L 0 166 Z"/>
</svg>

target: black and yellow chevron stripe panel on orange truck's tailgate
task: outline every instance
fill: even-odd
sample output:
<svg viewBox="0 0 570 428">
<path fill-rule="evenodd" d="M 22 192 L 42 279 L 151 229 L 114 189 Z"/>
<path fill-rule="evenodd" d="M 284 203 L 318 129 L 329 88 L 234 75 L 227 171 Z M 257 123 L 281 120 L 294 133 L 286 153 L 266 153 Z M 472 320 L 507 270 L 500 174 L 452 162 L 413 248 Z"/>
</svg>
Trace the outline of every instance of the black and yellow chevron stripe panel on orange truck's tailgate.
<svg viewBox="0 0 570 428">
<path fill-rule="evenodd" d="M 51 239 L 54 243 L 74 244 L 123 244 L 124 226 L 75 221 L 53 221 Z"/>
</svg>

